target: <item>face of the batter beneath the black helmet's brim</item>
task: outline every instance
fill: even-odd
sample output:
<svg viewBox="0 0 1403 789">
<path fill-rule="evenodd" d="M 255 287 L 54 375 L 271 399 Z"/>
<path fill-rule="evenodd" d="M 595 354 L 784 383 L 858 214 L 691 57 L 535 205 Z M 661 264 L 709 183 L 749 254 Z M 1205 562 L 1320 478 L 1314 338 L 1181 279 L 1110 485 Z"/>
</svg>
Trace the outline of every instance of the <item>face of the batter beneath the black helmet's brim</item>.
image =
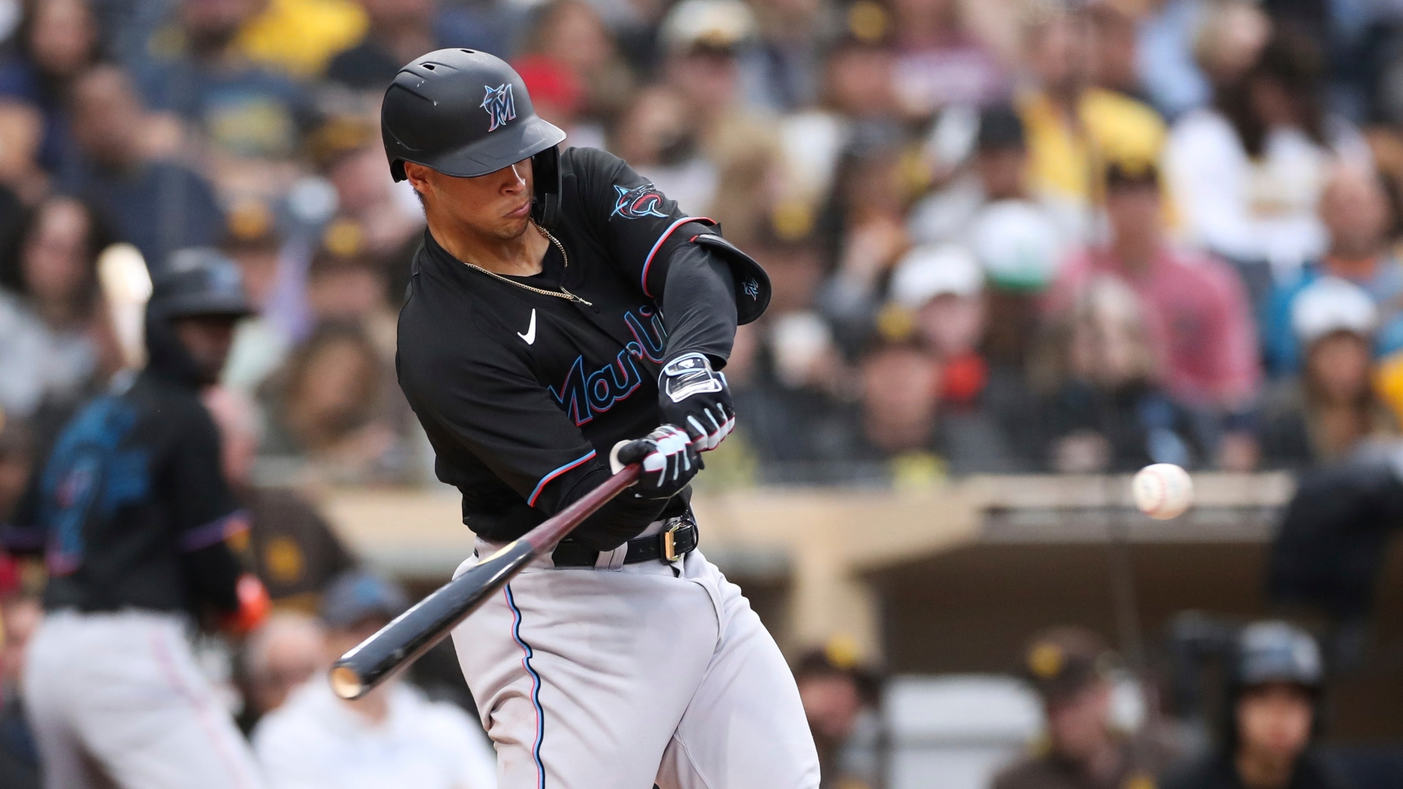
<svg viewBox="0 0 1403 789">
<path fill-rule="evenodd" d="M 434 220 L 462 230 L 508 241 L 530 227 L 535 181 L 529 158 L 477 178 L 453 178 L 407 163 L 404 172 L 424 195 L 424 210 Z"/>
</svg>

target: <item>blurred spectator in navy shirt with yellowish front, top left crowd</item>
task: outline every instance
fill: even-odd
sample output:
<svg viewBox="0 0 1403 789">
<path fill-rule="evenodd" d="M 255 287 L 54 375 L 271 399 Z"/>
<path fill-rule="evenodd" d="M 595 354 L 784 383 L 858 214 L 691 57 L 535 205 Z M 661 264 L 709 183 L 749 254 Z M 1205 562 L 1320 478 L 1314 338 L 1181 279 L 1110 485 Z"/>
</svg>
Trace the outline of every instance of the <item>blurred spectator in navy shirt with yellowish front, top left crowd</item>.
<svg viewBox="0 0 1403 789">
<path fill-rule="evenodd" d="M 168 59 L 136 71 L 147 102 L 184 119 L 223 195 L 272 196 L 296 177 L 290 161 L 310 105 L 288 77 L 258 67 L 237 46 L 261 0 L 181 0 L 180 41 Z"/>
</svg>

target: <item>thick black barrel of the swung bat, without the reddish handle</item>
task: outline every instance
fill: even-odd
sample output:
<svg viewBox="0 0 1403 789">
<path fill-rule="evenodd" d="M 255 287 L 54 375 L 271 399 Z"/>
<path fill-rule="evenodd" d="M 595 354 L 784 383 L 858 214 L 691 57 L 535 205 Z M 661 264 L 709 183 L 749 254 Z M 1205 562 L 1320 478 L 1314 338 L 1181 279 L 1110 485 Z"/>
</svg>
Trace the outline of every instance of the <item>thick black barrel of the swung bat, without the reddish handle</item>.
<svg viewBox="0 0 1403 789">
<path fill-rule="evenodd" d="M 370 692 L 434 649 L 535 556 L 530 544 L 518 540 L 443 584 L 341 656 L 331 668 L 331 688 L 347 699 Z"/>
</svg>

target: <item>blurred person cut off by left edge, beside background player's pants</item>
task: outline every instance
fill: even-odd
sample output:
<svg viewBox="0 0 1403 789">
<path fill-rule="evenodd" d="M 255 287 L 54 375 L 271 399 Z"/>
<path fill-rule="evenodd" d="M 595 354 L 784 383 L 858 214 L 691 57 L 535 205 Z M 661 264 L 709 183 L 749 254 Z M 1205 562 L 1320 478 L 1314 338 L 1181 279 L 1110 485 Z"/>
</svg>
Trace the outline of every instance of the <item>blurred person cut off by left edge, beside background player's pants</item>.
<svg viewBox="0 0 1403 789">
<path fill-rule="evenodd" d="M 0 554 L 0 786 L 39 789 L 39 753 L 25 719 L 21 680 L 43 607 L 22 587 L 18 562 Z"/>
</svg>

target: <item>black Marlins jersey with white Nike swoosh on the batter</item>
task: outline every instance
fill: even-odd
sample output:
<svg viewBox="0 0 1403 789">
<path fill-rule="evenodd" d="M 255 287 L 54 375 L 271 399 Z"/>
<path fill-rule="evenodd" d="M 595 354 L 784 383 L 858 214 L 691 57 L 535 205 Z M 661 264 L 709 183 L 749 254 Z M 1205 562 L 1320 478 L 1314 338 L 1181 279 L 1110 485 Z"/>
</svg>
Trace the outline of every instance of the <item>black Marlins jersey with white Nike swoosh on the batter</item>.
<svg viewBox="0 0 1403 789">
<path fill-rule="evenodd" d="M 714 223 L 683 216 L 617 157 L 571 149 L 560 167 L 561 217 L 550 231 L 565 255 L 551 245 L 542 273 L 513 279 L 579 300 L 474 270 L 425 231 L 400 313 L 400 385 L 439 479 L 463 493 L 463 523 L 492 541 L 521 537 L 599 485 L 613 446 L 658 426 L 658 373 L 676 350 L 659 308 L 668 269 L 683 244 L 718 241 Z M 769 284 L 753 261 L 735 259 L 745 261 L 728 261 L 745 322 Z M 654 509 L 638 513 L 638 528 L 685 509 L 679 499 L 668 510 L 633 505 Z M 589 526 L 577 538 L 599 549 L 630 537 Z"/>
</svg>

